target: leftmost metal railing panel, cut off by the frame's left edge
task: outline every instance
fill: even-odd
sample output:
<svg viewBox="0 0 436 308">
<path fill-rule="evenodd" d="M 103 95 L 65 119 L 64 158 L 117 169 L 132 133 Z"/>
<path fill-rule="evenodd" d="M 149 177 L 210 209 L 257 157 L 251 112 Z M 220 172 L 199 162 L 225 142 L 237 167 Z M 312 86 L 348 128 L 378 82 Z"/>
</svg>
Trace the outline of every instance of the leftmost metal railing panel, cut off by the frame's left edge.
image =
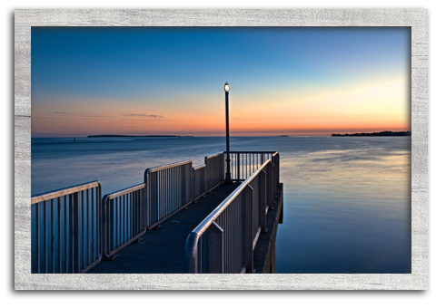
<svg viewBox="0 0 436 308">
<path fill-rule="evenodd" d="M 100 262 L 98 181 L 32 197 L 32 273 L 84 273 Z"/>
</svg>

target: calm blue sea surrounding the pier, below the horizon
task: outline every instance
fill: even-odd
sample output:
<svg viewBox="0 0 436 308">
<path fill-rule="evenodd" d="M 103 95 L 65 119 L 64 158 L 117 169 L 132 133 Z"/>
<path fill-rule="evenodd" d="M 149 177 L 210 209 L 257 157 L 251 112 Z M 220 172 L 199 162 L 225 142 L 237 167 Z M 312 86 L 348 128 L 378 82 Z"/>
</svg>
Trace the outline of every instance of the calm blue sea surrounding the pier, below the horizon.
<svg viewBox="0 0 436 308">
<path fill-rule="evenodd" d="M 203 164 L 224 138 L 32 139 L 32 195 L 99 180 L 103 195 L 145 168 Z M 232 150 L 277 150 L 284 217 L 277 273 L 411 272 L 411 138 L 232 138 Z"/>
</svg>

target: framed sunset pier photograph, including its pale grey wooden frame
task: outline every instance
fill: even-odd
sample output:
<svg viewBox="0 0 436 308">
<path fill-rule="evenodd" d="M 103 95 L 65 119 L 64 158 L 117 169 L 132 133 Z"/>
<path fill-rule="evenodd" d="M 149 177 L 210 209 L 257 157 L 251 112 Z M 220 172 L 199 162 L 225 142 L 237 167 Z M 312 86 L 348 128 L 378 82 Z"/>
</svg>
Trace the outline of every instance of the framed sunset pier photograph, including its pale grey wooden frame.
<svg viewBox="0 0 436 308">
<path fill-rule="evenodd" d="M 427 75 L 422 9 L 15 10 L 15 290 L 426 290 Z"/>
</svg>

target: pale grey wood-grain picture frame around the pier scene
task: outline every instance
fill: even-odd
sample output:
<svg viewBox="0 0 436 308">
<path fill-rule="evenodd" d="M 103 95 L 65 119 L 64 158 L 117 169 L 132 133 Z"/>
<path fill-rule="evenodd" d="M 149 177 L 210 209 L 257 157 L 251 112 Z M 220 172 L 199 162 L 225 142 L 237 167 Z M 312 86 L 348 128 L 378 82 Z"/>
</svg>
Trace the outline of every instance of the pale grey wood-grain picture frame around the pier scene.
<svg viewBox="0 0 436 308">
<path fill-rule="evenodd" d="M 411 274 L 30 274 L 31 26 L 411 27 Z M 428 13 L 424 9 L 15 10 L 15 289 L 428 288 Z M 102 284 L 104 282 L 104 284 Z"/>
</svg>

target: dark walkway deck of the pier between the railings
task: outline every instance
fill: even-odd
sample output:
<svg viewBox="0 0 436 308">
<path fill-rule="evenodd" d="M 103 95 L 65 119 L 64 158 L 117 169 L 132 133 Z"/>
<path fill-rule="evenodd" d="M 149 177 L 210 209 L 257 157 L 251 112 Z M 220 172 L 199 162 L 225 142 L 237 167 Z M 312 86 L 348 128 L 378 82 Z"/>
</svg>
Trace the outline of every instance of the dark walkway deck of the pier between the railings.
<svg viewBox="0 0 436 308">
<path fill-rule="evenodd" d="M 147 231 L 143 241 L 124 247 L 114 261 L 102 260 L 89 274 L 184 274 L 186 238 L 239 184 L 223 185 L 196 204 Z"/>
</svg>

